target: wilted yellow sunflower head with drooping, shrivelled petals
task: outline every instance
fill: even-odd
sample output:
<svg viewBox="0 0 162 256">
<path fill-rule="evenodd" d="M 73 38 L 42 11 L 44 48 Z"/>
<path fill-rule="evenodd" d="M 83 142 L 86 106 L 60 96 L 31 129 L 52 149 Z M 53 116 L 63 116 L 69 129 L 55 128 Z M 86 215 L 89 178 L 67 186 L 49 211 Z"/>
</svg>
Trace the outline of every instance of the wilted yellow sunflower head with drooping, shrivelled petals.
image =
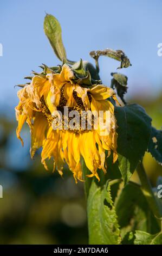
<svg viewBox="0 0 162 256">
<path fill-rule="evenodd" d="M 114 90 L 103 86 L 103 84 L 92 83 L 89 71 L 83 70 L 87 76 L 80 74 L 79 69 L 74 69 L 67 64 L 59 68 L 47 68 L 41 74 L 34 75 L 31 82 L 18 91 L 20 100 L 16 106 L 16 119 L 18 126 L 16 130 L 17 138 L 23 144 L 20 132 L 23 124 L 30 127 L 31 132 L 31 157 L 38 148 L 42 147 L 41 162 L 48 169 L 46 160 L 53 158 L 54 167 L 63 174 L 63 166 L 68 164 L 73 172 L 75 181 L 83 181 L 82 159 L 85 161 L 90 171 L 88 177 L 96 176 L 98 180 L 98 170 L 102 169 L 106 173 L 106 157 L 113 151 L 113 162 L 118 155 L 116 119 L 114 106 L 109 100 L 113 97 L 116 100 Z M 86 84 L 87 83 L 87 84 Z M 68 109 L 68 117 L 64 110 Z M 79 123 L 74 122 L 70 113 L 79 113 Z M 95 114 L 92 115 L 92 126 L 88 129 L 87 111 L 99 113 L 109 111 L 109 125 L 98 125 L 94 129 Z M 58 114 L 56 114 L 58 113 Z M 60 114 L 59 114 L 60 113 Z M 84 113 L 84 114 L 82 114 Z M 62 115 L 61 129 L 58 120 Z M 85 124 L 84 129 L 81 120 Z M 68 128 L 65 124 L 69 123 Z M 74 124 L 75 123 L 75 124 Z M 106 132 L 107 131 L 107 132 Z"/>
</svg>

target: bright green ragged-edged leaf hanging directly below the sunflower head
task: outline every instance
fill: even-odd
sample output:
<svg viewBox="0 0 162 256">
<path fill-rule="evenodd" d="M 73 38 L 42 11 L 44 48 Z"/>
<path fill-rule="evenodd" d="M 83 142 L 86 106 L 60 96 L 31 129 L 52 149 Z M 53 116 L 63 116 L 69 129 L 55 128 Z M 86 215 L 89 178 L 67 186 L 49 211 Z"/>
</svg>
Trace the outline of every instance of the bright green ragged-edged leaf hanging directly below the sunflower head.
<svg viewBox="0 0 162 256">
<path fill-rule="evenodd" d="M 100 187 L 92 181 L 87 200 L 89 243 L 96 245 L 118 245 L 120 230 L 113 201 L 111 184 Z"/>
</svg>

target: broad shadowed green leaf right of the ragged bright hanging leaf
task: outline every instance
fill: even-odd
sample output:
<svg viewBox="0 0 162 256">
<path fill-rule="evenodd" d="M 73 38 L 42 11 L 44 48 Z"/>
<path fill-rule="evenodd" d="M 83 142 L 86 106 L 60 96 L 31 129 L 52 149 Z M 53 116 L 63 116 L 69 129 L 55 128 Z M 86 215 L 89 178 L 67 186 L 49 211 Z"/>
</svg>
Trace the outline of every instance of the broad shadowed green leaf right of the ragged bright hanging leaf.
<svg viewBox="0 0 162 256">
<path fill-rule="evenodd" d="M 114 205 L 122 237 L 128 231 L 137 229 L 152 234 L 160 231 L 157 219 L 153 216 L 138 184 L 129 182 L 125 187 L 121 188 Z M 124 240 L 126 242 L 126 237 L 124 237 Z"/>
</svg>

